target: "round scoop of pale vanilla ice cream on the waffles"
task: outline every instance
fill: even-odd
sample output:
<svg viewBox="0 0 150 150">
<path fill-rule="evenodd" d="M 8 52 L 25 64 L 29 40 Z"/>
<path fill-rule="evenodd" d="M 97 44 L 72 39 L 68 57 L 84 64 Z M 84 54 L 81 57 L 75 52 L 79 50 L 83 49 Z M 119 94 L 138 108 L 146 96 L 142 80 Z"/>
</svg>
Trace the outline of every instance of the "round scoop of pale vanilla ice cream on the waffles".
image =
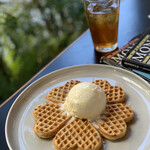
<svg viewBox="0 0 150 150">
<path fill-rule="evenodd" d="M 94 83 L 82 82 L 75 85 L 62 105 L 64 111 L 80 119 L 96 120 L 106 107 L 106 95 Z"/>
</svg>

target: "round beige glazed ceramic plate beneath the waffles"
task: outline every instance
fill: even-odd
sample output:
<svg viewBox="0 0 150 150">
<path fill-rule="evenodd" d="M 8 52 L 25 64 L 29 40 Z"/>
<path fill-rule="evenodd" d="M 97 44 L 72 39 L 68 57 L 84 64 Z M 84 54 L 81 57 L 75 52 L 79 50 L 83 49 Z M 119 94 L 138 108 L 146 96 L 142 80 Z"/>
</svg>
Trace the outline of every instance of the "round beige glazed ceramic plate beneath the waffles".
<svg viewBox="0 0 150 150">
<path fill-rule="evenodd" d="M 37 105 L 46 102 L 44 97 L 48 91 L 70 79 L 88 82 L 105 79 L 111 85 L 121 86 L 126 92 L 126 103 L 134 110 L 135 119 L 128 124 L 124 138 L 113 142 L 105 140 L 104 150 L 150 149 L 150 85 L 131 72 L 106 65 L 82 65 L 58 70 L 26 88 L 14 102 L 7 116 L 5 134 L 10 149 L 54 149 L 52 139 L 41 139 L 34 135 L 32 111 Z"/>
</svg>

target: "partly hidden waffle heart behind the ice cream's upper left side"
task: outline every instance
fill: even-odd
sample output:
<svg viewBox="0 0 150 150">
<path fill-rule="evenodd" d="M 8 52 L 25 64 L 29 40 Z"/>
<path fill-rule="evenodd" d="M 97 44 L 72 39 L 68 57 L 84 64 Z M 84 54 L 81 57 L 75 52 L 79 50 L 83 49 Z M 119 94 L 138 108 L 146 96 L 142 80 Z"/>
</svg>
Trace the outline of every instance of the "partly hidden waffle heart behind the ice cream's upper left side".
<svg viewBox="0 0 150 150">
<path fill-rule="evenodd" d="M 71 88 L 80 83 L 80 81 L 77 80 L 70 80 L 68 81 L 64 86 L 59 86 L 56 88 L 53 88 L 47 95 L 46 100 L 53 101 L 56 103 L 64 103 L 66 96 L 68 95 Z"/>
</svg>

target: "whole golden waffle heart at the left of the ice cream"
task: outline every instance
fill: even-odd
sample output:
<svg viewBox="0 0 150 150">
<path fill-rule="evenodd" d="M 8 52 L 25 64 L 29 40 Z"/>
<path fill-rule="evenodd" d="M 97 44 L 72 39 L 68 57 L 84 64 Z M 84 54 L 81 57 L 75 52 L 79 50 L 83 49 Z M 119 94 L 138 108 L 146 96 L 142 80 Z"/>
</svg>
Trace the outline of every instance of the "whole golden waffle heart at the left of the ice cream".
<svg viewBox="0 0 150 150">
<path fill-rule="evenodd" d="M 49 102 L 37 106 L 32 115 L 36 123 L 33 131 L 35 135 L 42 138 L 49 138 L 54 136 L 71 118 L 60 110 L 58 103 Z"/>
</svg>

